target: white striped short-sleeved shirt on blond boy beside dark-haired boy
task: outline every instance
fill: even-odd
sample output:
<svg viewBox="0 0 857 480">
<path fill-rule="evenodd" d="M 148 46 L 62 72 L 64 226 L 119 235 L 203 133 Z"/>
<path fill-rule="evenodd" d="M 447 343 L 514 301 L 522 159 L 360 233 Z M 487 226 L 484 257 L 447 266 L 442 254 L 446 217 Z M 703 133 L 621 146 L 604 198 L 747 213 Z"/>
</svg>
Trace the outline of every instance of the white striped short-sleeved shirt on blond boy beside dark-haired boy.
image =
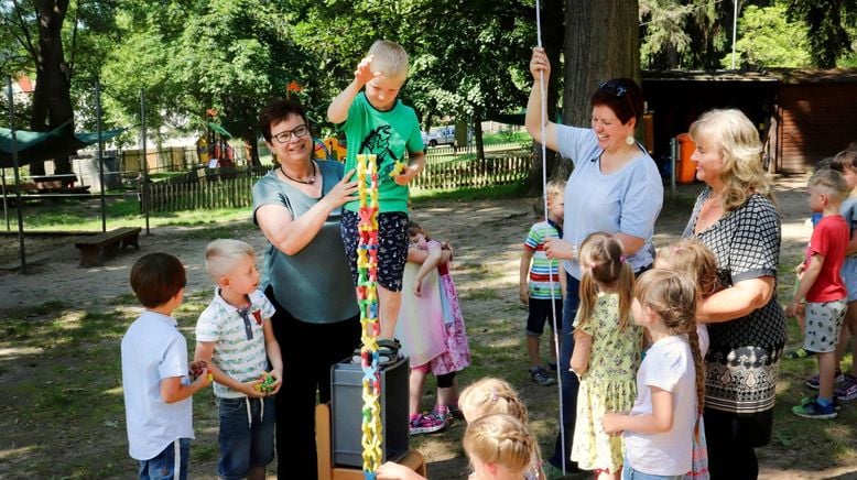
<svg viewBox="0 0 857 480">
<path fill-rule="evenodd" d="M 264 351 L 264 321 L 271 321 L 274 306 L 261 291 L 250 294 L 250 331 L 252 339 L 248 340 L 248 330 L 238 308 L 229 305 L 220 296 L 220 288 L 215 290 L 214 301 L 199 314 L 196 321 L 196 341 L 214 341 L 215 349 L 211 362 L 227 375 L 247 383 L 259 379 L 268 370 L 268 356 Z M 241 399 L 246 396 L 228 386 L 214 383 L 215 396 L 220 399 Z"/>
</svg>

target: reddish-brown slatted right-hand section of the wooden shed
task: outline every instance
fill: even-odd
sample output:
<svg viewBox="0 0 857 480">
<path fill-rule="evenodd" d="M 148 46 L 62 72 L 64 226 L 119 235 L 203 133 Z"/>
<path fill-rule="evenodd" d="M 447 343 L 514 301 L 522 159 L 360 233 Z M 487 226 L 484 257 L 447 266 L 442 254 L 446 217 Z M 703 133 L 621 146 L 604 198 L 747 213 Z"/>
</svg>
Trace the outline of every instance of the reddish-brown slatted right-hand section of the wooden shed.
<svg viewBox="0 0 857 480">
<path fill-rule="evenodd" d="M 768 148 L 778 172 L 805 172 L 857 141 L 857 68 L 771 68 L 777 109 Z"/>
</svg>

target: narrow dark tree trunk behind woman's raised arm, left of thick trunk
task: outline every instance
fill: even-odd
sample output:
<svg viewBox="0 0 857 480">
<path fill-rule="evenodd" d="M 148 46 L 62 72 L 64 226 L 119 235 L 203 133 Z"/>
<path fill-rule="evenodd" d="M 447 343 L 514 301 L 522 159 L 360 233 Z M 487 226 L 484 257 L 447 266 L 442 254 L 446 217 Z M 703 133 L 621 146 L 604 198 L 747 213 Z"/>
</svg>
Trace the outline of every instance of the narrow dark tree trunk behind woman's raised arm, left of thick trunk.
<svg viewBox="0 0 857 480">
<path fill-rule="evenodd" d="M 542 46 L 547 54 L 547 59 L 551 62 L 553 75 L 547 79 L 547 118 L 551 120 L 556 119 L 556 105 L 560 99 L 560 54 L 563 50 L 563 34 L 565 33 L 565 25 L 563 22 L 563 0 L 547 0 L 544 2 L 544 9 L 542 10 Z M 547 179 L 555 176 L 567 175 L 563 174 L 563 168 L 558 168 L 562 165 L 560 155 L 553 150 L 546 150 L 545 165 L 547 170 Z M 542 145 L 533 142 L 533 162 L 530 165 L 530 188 L 528 188 L 528 196 L 541 196 L 542 195 Z M 541 203 L 539 203 L 541 205 Z M 542 207 L 538 207 L 536 210 L 543 210 Z"/>
</svg>

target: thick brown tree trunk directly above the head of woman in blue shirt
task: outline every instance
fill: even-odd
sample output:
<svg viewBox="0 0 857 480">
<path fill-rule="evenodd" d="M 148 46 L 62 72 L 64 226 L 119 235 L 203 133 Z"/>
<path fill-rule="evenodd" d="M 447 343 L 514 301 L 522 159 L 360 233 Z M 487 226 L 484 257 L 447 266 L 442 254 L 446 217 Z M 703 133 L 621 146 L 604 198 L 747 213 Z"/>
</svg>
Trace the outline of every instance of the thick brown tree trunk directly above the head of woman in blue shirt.
<svg viewBox="0 0 857 480">
<path fill-rule="evenodd" d="M 637 0 L 582 0 L 565 8 L 563 122 L 588 127 L 598 83 L 617 77 L 640 83 Z"/>
</svg>

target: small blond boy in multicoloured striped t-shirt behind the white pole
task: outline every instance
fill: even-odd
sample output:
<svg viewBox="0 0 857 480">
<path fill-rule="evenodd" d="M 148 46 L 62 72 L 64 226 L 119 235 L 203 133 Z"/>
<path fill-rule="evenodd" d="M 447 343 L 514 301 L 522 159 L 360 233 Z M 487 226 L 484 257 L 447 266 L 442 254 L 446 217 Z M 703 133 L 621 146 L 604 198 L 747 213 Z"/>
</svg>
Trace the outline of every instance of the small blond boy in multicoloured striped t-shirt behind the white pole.
<svg viewBox="0 0 857 480">
<path fill-rule="evenodd" d="M 562 323 L 565 275 L 558 260 L 551 260 L 544 251 L 544 239 L 563 238 L 563 217 L 565 215 L 565 181 L 552 181 L 545 188 L 547 199 L 547 220 L 530 227 L 523 242 L 519 269 L 519 296 L 528 306 L 527 353 L 530 356 L 530 377 L 540 385 L 553 385 L 556 380 L 542 364 L 539 352 L 545 320 L 551 320 L 551 329 Z M 554 315 L 555 314 L 555 315 Z M 551 341 L 551 370 L 556 370 L 556 349 Z"/>
</svg>

